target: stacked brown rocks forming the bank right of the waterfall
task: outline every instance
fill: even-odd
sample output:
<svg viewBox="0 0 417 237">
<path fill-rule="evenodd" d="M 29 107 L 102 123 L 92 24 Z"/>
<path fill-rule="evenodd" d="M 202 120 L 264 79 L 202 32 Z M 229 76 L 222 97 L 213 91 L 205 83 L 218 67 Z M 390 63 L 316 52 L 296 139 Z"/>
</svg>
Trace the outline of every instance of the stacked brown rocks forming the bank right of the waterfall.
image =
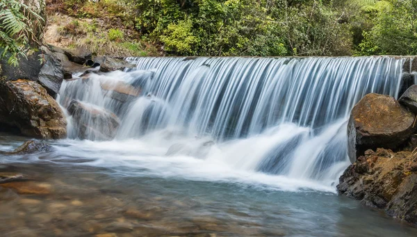
<svg viewBox="0 0 417 237">
<path fill-rule="evenodd" d="M 338 192 L 417 224 L 417 85 L 399 101 L 369 94 L 354 106 Z"/>
</svg>

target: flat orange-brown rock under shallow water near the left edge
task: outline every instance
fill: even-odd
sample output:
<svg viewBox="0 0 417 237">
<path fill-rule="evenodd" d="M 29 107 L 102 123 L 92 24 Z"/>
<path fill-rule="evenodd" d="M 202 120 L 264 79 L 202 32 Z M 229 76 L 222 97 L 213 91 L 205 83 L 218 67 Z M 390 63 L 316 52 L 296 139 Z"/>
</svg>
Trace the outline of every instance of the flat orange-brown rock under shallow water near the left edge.
<svg viewBox="0 0 417 237">
<path fill-rule="evenodd" d="M 48 195 L 51 193 L 51 186 L 49 184 L 35 181 L 0 183 L 0 186 L 3 188 L 12 188 L 19 194 Z"/>
</svg>

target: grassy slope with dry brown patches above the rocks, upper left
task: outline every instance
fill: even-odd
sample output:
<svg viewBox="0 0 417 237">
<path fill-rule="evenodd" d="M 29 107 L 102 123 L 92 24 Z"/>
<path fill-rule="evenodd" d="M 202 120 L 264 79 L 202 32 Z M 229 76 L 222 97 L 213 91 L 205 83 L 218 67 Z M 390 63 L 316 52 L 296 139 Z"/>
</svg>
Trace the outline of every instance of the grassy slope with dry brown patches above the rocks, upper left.
<svg viewBox="0 0 417 237">
<path fill-rule="evenodd" d="M 47 0 L 47 10 L 49 25 L 58 26 L 58 35 L 49 34 L 56 39 L 49 40 L 60 47 L 83 47 L 95 55 L 161 55 L 134 29 L 134 14 L 124 0 Z"/>
</svg>

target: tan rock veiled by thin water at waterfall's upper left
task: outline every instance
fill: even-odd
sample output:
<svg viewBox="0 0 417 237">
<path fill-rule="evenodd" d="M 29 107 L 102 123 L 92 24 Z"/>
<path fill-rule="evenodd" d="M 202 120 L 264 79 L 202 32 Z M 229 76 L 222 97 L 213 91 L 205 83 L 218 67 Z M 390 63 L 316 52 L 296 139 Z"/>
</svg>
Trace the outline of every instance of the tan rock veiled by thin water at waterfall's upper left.
<svg viewBox="0 0 417 237">
<path fill-rule="evenodd" d="M 104 81 L 100 83 L 101 89 L 105 91 L 104 95 L 121 102 L 133 101 L 138 98 L 141 90 L 126 84 L 122 81 L 111 82 Z"/>
</svg>

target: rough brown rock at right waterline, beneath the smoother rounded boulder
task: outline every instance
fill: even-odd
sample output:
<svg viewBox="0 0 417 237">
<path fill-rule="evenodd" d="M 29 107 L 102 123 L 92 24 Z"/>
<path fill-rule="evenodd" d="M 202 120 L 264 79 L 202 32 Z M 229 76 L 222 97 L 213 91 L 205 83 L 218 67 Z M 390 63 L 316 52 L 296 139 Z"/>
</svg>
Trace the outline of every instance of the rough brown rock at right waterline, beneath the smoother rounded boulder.
<svg viewBox="0 0 417 237">
<path fill-rule="evenodd" d="M 417 161 L 411 152 L 377 149 L 360 156 L 339 179 L 338 193 L 417 224 Z"/>
</svg>

